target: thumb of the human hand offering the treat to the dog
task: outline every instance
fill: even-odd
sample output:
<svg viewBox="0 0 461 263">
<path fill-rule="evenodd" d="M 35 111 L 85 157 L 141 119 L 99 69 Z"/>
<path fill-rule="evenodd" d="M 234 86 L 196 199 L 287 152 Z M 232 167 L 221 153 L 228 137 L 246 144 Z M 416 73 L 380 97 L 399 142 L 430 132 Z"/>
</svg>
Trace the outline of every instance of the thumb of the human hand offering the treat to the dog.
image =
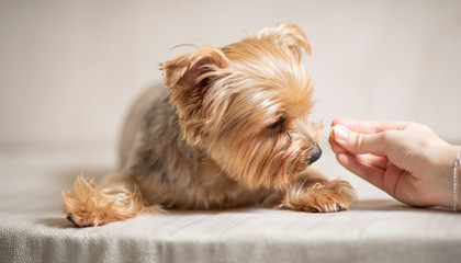
<svg viewBox="0 0 461 263">
<path fill-rule="evenodd" d="M 333 126 L 331 136 L 338 145 L 352 153 L 385 156 L 390 142 L 384 133 L 360 134 L 337 124 Z"/>
</svg>

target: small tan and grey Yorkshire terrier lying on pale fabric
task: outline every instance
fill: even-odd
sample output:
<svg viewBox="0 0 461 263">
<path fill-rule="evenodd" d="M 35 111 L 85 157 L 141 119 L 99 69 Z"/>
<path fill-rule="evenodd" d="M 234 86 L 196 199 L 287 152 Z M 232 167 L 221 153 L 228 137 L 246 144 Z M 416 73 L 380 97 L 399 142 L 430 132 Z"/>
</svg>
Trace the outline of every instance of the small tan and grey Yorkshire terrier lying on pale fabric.
<svg viewBox="0 0 461 263">
<path fill-rule="evenodd" d="M 353 188 L 307 170 L 322 150 L 310 119 L 311 55 L 292 23 L 256 37 L 161 64 L 167 89 L 135 101 L 121 141 L 120 172 L 101 187 L 78 176 L 64 213 L 78 227 L 146 211 L 224 209 L 262 202 L 303 211 L 350 208 Z"/>
</svg>

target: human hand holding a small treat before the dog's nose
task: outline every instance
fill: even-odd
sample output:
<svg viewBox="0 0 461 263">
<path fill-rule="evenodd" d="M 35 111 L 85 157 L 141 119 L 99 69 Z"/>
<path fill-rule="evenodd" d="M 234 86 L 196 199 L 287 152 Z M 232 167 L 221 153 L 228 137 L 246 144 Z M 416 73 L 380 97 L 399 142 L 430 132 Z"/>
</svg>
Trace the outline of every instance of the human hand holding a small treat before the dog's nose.
<svg viewBox="0 0 461 263">
<path fill-rule="evenodd" d="M 416 123 L 338 118 L 331 126 L 331 149 L 347 170 L 405 204 L 452 207 L 460 146 Z"/>
</svg>

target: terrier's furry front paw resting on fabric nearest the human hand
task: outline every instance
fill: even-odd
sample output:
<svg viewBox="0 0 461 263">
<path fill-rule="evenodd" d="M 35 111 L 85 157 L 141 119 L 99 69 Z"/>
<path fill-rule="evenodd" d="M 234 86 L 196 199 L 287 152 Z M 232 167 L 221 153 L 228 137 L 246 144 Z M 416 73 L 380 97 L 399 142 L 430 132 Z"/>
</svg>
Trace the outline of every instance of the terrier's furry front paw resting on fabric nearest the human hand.
<svg viewBox="0 0 461 263">
<path fill-rule="evenodd" d="M 303 211 L 339 211 L 350 208 L 355 191 L 346 181 L 315 183 L 307 187 L 290 188 L 282 201 L 283 207 Z"/>
</svg>

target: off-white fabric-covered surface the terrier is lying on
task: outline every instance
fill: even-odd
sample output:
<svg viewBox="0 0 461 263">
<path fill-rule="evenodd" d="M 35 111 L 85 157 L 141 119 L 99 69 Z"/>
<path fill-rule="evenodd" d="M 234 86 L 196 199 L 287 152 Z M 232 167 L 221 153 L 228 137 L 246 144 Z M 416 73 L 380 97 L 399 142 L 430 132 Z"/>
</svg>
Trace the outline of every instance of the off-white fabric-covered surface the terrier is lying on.
<svg viewBox="0 0 461 263">
<path fill-rule="evenodd" d="M 170 211 L 79 229 L 60 192 L 115 167 L 114 149 L 1 146 L 0 262 L 460 262 L 461 214 L 402 205 L 324 151 L 317 169 L 357 188 L 351 210 Z"/>
</svg>

